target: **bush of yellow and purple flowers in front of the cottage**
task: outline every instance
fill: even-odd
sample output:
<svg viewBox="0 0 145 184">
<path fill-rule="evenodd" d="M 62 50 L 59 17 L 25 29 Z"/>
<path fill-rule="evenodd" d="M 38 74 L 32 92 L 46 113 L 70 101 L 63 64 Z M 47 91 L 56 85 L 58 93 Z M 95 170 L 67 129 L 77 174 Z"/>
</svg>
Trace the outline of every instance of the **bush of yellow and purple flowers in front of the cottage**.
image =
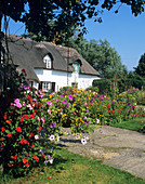
<svg viewBox="0 0 145 184">
<path fill-rule="evenodd" d="M 45 103 L 45 122 L 48 139 L 58 139 L 60 127 L 70 127 L 71 133 L 89 132 L 90 118 L 89 109 L 85 103 L 84 92 L 78 89 L 71 89 L 69 94 L 50 94 L 48 98 L 43 98 Z M 54 136 L 51 137 L 55 130 Z"/>
</svg>

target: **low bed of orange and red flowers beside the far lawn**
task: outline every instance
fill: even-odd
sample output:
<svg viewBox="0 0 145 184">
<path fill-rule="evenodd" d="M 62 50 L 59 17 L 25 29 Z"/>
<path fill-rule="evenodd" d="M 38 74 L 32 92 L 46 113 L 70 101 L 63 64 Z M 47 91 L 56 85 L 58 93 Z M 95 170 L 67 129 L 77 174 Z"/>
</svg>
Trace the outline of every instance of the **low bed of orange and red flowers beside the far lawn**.
<svg viewBox="0 0 145 184">
<path fill-rule="evenodd" d="M 121 122 L 128 119 L 143 116 L 141 108 L 126 102 L 107 97 L 105 95 L 90 93 L 88 95 L 88 108 L 92 119 L 98 119 L 105 124 Z"/>
</svg>

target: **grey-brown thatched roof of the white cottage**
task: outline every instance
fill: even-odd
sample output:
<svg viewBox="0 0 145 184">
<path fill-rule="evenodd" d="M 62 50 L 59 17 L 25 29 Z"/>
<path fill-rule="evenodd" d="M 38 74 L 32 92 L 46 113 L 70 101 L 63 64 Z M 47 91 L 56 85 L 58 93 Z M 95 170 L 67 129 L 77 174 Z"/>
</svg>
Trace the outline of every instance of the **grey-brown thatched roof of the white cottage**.
<svg viewBox="0 0 145 184">
<path fill-rule="evenodd" d="M 80 74 L 100 76 L 100 74 L 72 48 L 58 47 L 51 42 L 36 42 L 19 36 L 8 35 L 10 56 L 18 68 L 24 68 L 27 78 L 39 81 L 35 68 L 45 68 L 43 57 L 52 56 L 54 70 L 74 71 L 72 63 L 79 61 Z M 5 47 L 4 42 L 3 45 Z M 67 63 L 69 63 L 67 68 Z"/>
</svg>

